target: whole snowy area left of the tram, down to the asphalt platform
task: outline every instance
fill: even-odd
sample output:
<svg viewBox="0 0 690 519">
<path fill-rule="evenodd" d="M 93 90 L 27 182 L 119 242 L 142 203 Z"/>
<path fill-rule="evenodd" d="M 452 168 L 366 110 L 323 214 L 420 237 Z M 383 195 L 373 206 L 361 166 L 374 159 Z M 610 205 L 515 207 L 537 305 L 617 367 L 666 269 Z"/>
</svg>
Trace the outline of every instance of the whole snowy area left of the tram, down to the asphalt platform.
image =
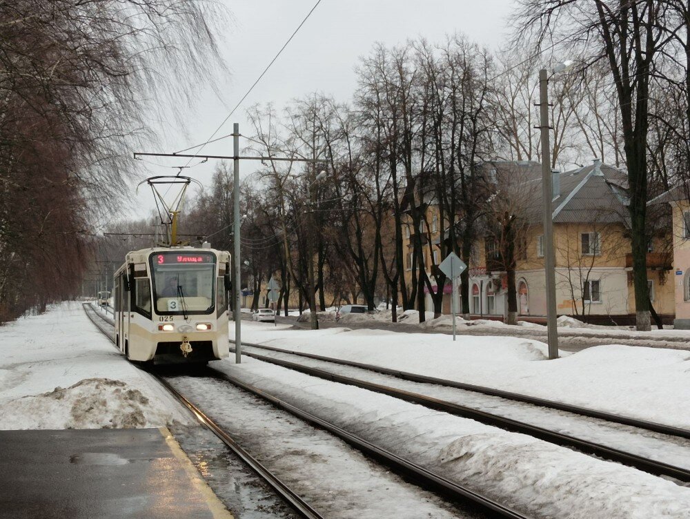
<svg viewBox="0 0 690 519">
<path fill-rule="evenodd" d="M 193 423 L 148 373 L 97 331 L 79 303 L 6 324 L 2 338 L 0 429 Z"/>
</svg>

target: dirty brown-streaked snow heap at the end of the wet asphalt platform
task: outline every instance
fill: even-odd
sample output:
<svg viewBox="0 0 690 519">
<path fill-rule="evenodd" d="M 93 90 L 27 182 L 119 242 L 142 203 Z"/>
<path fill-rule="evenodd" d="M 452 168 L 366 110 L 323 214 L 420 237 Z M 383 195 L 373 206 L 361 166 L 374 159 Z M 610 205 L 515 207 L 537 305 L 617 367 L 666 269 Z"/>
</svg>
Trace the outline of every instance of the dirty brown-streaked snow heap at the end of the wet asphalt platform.
<svg viewBox="0 0 690 519">
<path fill-rule="evenodd" d="M 167 419 L 139 389 L 108 378 L 87 378 L 0 406 L 3 429 L 131 429 L 158 427 Z"/>
</svg>

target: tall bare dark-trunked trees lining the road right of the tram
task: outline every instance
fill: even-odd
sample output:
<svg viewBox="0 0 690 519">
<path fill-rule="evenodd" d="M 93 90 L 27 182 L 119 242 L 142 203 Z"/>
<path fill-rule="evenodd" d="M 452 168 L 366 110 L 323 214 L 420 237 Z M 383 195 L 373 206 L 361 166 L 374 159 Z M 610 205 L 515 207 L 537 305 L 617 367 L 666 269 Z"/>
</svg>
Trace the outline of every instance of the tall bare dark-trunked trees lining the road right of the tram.
<svg viewBox="0 0 690 519">
<path fill-rule="evenodd" d="M 522 14 L 531 23 L 540 19 L 533 11 L 538 4 L 525 2 Z M 642 4 L 635 6 L 644 11 Z M 611 23 L 604 18 L 588 27 L 600 32 Z M 522 36 L 535 41 L 540 34 L 535 30 Z M 586 49 L 579 50 L 587 55 Z M 602 52 L 606 50 L 604 46 Z M 636 79 L 628 79 L 633 81 L 630 88 L 640 88 L 640 76 L 646 75 L 647 99 L 631 101 L 621 97 L 620 78 L 610 63 L 586 58 L 581 63 L 551 80 L 551 166 L 603 157 L 629 172 L 638 168 L 629 173 L 628 220 L 638 257 L 638 322 L 644 328 L 649 326 L 644 314 L 647 273 L 638 242 L 644 242 L 646 252 L 651 232 L 644 206 L 683 180 L 688 140 L 680 135 L 687 126 L 680 121 L 680 107 L 687 110 L 686 87 L 653 81 L 653 73 L 642 68 Z M 491 164 L 539 159 L 533 128 L 535 71 L 545 66 L 544 59 L 530 58 L 524 47 L 493 55 L 460 35 L 440 44 L 420 39 L 393 48 L 375 46 L 357 65 L 358 88 L 351 103 L 312 94 L 295 100 L 282 114 L 271 105 L 253 107 L 250 148 L 267 156 L 318 157 L 321 162 L 302 168 L 271 161 L 246 184 L 244 198 L 252 215 L 245 224 L 252 236 L 243 242 L 247 254 L 273 258 L 282 279 L 289 278 L 305 302 L 310 291 L 318 291 L 322 307 L 332 302 L 326 302 L 329 294 L 350 301 L 360 297 L 373 308 L 377 295 L 388 296 L 395 320 L 398 305 L 423 310 L 425 292 L 440 314 L 447 280 L 437 262 L 453 251 L 470 264 L 477 237 L 493 236 L 502 270 L 509 273 L 509 318 L 514 320 L 515 265 L 529 226 L 529 197 L 524 184 L 516 182 L 519 175 L 497 178 Z M 649 99 L 666 112 L 665 119 L 651 111 Z M 636 103 L 651 114 L 644 135 L 629 128 L 625 110 Z M 642 117 L 640 107 L 635 117 Z M 644 150 L 631 150 L 631 139 Z M 327 172 L 326 181 L 315 182 L 321 169 Z M 435 222 L 429 221 L 431 215 Z M 432 228 L 442 237 L 436 242 Z M 403 237 L 408 233 L 406 250 Z M 318 275 L 310 283 L 312 261 Z M 260 263 L 255 262 L 257 268 Z M 264 279 L 272 268 L 265 265 Z M 638 278 L 644 278 L 642 288 Z M 468 272 L 462 286 L 462 312 L 469 313 Z"/>
</svg>

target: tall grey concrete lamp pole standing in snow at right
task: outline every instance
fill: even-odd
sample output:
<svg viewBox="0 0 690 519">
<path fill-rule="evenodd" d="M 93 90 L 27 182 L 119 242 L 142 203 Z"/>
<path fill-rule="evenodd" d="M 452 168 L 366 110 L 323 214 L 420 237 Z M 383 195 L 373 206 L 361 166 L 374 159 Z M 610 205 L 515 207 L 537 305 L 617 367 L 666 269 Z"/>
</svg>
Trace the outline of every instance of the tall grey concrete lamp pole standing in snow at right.
<svg viewBox="0 0 690 519">
<path fill-rule="evenodd" d="M 551 201 L 551 144 L 549 143 L 549 77 L 539 71 L 540 128 L 542 130 L 542 201 L 544 204 L 544 273 L 546 275 L 546 329 L 549 336 L 549 359 L 558 358 L 556 328 L 555 251 L 553 250 L 553 217 Z"/>
</svg>

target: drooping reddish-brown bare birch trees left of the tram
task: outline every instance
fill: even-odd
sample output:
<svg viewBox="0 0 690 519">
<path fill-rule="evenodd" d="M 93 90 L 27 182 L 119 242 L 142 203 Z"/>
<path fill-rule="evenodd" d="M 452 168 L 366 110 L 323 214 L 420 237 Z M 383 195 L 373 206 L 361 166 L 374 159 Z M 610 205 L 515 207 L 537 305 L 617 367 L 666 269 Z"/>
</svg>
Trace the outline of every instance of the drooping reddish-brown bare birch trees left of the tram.
<svg viewBox="0 0 690 519">
<path fill-rule="evenodd" d="M 179 100 L 176 79 L 208 77 L 217 59 L 210 9 L 0 1 L 0 322 L 79 293 L 92 238 L 127 191 L 132 143 L 157 115 L 143 100 Z"/>
</svg>

